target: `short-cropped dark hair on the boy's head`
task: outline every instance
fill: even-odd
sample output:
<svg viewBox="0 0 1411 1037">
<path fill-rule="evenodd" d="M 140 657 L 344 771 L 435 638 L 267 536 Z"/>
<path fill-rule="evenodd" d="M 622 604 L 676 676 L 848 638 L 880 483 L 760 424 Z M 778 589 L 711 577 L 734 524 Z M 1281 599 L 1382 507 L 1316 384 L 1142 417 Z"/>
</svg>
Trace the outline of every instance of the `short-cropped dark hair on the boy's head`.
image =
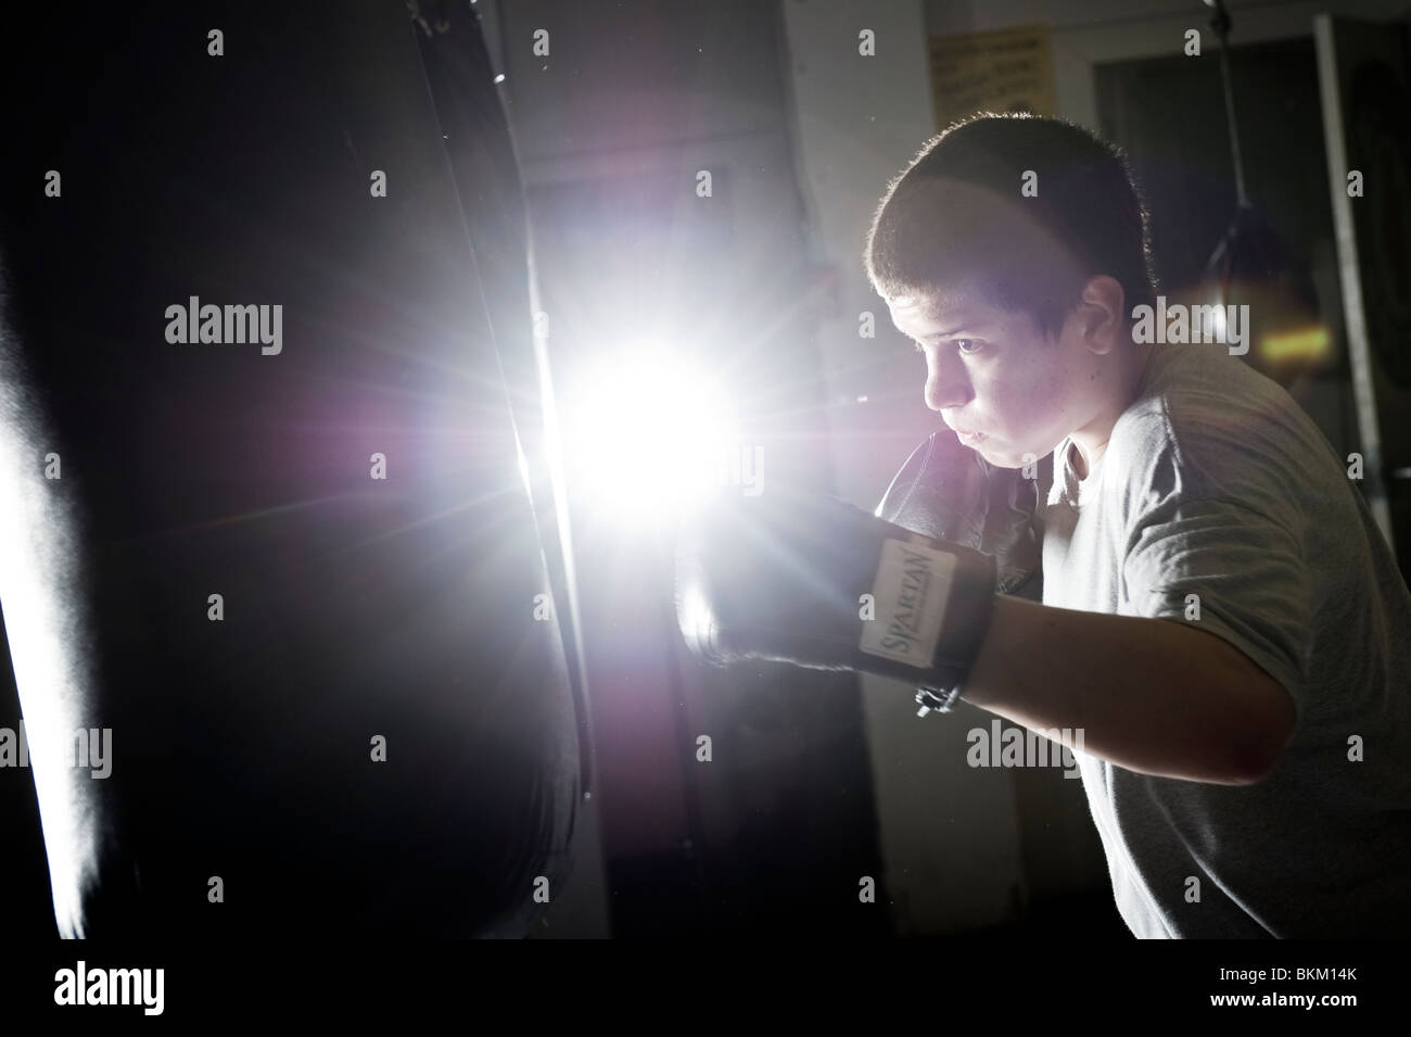
<svg viewBox="0 0 1411 1037">
<path fill-rule="evenodd" d="M 1036 175 L 1036 196 L 1020 188 Z M 978 291 L 1057 336 L 1088 278 L 1154 303 L 1150 214 L 1120 148 L 1062 119 L 979 113 L 888 185 L 862 261 L 883 296 Z"/>
</svg>

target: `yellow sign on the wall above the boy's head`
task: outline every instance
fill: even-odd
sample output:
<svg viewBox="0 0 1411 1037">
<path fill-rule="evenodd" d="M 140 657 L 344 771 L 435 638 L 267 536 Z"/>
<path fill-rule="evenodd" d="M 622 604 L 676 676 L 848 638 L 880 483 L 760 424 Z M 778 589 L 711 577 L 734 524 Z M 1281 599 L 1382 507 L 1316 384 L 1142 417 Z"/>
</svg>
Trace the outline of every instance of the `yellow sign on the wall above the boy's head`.
<svg viewBox="0 0 1411 1037">
<path fill-rule="evenodd" d="M 975 111 L 1057 113 L 1047 25 L 931 37 L 935 126 Z"/>
</svg>

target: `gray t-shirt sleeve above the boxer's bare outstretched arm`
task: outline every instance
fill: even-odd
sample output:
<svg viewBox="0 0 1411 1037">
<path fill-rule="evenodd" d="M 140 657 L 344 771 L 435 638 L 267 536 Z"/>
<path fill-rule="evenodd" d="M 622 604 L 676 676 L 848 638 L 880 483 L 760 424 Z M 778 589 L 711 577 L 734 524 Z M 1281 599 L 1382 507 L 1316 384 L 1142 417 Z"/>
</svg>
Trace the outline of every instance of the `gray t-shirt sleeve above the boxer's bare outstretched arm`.
<svg viewBox="0 0 1411 1037">
<path fill-rule="evenodd" d="M 1223 638 L 1288 690 L 1301 721 L 1309 588 L 1297 516 L 1268 514 L 1274 498 L 1250 487 L 1235 484 L 1225 495 L 1201 485 L 1188 495 L 1175 483 L 1149 487 L 1141 495 L 1149 507 L 1129 523 L 1122 577 L 1132 608 Z"/>
</svg>

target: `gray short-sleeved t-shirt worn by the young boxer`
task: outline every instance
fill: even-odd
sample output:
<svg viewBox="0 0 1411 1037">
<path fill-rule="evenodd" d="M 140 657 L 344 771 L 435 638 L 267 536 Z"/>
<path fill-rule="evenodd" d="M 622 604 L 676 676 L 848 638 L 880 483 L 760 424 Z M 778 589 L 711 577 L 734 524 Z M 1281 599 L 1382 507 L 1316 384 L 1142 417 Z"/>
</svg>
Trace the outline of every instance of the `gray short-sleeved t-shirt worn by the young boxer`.
<svg viewBox="0 0 1411 1037">
<path fill-rule="evenodd" d="M 1297 710 L 1252 786 L 1078 753 L 1132 931 L 1411 935 L 1411 593 L 1348 461 L 1219 346 L 1158 346 L 1095 470 L 1077 478 L 1065 439 L 1054 473 L 1046 605 L 1197 625 Z"/>
</svg>

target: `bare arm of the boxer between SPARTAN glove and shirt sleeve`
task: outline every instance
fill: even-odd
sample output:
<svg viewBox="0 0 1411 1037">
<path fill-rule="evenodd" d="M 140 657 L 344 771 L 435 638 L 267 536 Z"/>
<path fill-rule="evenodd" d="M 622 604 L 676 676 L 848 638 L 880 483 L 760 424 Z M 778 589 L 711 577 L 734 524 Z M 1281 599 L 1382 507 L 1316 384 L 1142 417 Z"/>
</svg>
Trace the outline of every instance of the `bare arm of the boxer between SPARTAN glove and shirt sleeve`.
<svg viewBox="0 0 1411 1037">
<path fill-rule="evenodd" d="M 1267 773 L 1292 724 L 1287 693 L 1212 633 L 1007 595 L 962 697 L 1029 728 L 1081 728 L 1084 752 L 1129 770 L 1221 784 Z"/>
</svg>

